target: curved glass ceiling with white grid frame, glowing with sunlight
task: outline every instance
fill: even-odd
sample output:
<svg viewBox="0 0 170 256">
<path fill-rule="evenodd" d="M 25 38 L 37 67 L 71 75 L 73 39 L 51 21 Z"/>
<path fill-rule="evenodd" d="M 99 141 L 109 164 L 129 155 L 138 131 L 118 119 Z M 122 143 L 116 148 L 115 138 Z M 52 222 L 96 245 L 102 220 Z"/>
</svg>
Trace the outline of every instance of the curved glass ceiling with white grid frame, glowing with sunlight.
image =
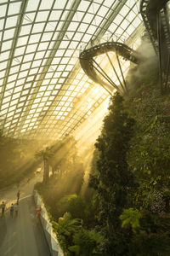
<svg viewBox="0 0 170 256">
<path fill-rule="evenodd" d="M 58 139 L 95 116 L 110 95 L 88 79 L 79 53 L 92 40 L 135 49 L 141 21 L 137 0 L 1 0 L 3 134 Z M 105 56 L 98 59 L 105 66 Z M 126 73 L 127 61 L 122 66 Z"/>
</svg>

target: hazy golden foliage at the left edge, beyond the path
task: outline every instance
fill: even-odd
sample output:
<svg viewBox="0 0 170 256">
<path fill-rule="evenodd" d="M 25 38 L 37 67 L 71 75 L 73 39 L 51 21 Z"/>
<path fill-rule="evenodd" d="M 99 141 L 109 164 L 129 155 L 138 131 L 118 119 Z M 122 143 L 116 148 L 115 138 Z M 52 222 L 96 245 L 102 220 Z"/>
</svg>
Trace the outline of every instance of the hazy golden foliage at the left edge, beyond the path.
<svg viewBox="0 0 170 256">
<path fill-rule="evenodd" d="M 1 188 L 12 183 L 19 183 L 21 179 L 35 171 L 39 161 L 32 159 L 35 153 L 34 149 L 37 150 L 39 147 L 37 141 L 5 137 L 0 131 Z"/>
</svg>

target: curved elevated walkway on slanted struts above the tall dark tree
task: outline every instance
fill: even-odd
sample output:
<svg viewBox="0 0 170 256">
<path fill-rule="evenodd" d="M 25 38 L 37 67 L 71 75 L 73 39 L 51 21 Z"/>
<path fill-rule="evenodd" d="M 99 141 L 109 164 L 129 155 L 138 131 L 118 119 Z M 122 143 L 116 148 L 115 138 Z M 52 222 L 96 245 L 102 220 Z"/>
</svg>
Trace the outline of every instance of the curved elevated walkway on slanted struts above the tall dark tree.
<svg viewBox="0 0 170 256">
<path fill-rule="evenodd" d="M 113 51 L 116 53 L 116 61 L 118 67 L 120 69 L 122 75 L 122 81 L 116 72 L 116 68 L 111 61 L 111 57 L 108 55 L 108 52 Z M 99 66 L 99 64 L 94 60 L 94 57 L 98 55 L 105 54 L 108 58 L 108 61 L 111 63 L 111 67 L 116 74 L 116 78 L 118 79 L 121 86 L 117 86 L 112 79 L 105 73 L 105 70 Z M 111 94 L 113 90 L 121 90 L 123 92 L 127 92 L 127 83 L 124 78 L 124 74 L 122 72 L 122 65 L 119 59 L 119 55 L 121 55 L 125 60 L 132 61 L 135 64 L 139 64 L 141 61 L 144 61 L 144 57 L 139 55 L 139 53 L 126 44 L 122 44 L 119 42 L 106 42 L 103 44 L 95 45 L 90 49 L 85 49 L 79 56 L 79 60 L 84 72 L 88 75 L 90 79 L 92 79 L 95 83 L 102 85 L 105 90 L 108 90 Z M 101 79 L 98 73 L 107 81 L 105 82 Z"/>
</svg>

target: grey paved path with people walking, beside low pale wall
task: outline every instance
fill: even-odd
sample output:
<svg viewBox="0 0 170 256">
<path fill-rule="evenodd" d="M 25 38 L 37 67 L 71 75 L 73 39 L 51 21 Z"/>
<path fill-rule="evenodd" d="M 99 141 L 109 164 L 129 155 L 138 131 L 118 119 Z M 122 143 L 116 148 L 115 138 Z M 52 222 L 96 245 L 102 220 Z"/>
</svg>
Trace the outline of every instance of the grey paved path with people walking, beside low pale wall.
<svg viewBox="0 0 170 256">
<path fill-rule="evenodd" d="M 19 214 L 11 218 L 9 210 L 4 216 L 0 214 L 0 255 L 1 256 L 50 256 L 48 244 L 41 224 L 36 221 L 36 208 L 32 190 L 39 177 L 29 183 L 20 184 Z M 17 188 L 0 191 L 0 202 L 7 207 L 16 202 Z"/>
</svg>

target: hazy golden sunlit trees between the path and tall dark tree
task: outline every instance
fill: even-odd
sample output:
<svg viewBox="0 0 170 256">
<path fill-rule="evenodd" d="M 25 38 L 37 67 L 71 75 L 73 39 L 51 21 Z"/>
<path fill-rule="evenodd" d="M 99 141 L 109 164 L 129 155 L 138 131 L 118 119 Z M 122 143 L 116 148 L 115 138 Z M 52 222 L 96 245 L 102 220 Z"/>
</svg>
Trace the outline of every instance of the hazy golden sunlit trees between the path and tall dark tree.
<svg viewBox="0 0 170 256">
<path fill-rule="evenodd" d="M 58 219 L 68 212 L 66 208 L 59 209 L 59 201 L 66 195 L 80 193 L 84 172 L 73 137 L 65 137 L 63 141 L 54 144 L 50 152 L 53 154 L 48 158 L 48 164 L 53 166 L 53 172 L 47 183 L 39 185 L 39 190 L 52 215 Z"/>
</svg>

